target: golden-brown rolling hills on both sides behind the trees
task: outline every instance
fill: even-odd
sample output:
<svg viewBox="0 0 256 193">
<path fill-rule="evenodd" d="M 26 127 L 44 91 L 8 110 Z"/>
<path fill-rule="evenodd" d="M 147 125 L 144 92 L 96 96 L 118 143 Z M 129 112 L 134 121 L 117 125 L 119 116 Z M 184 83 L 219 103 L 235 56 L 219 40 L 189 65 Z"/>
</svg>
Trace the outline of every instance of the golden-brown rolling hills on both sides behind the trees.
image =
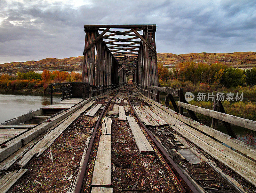
<svg viewBox="0 0 256 193">
<path fill-rule="evenodd" d="M 219 61 L 228 66 L 236 68 L 256 67 L 256 52 L 234 52 L 234 53 L 191 53 L 191 54 L 157 54 L 157 62 L 164 66 L 172 67 L 180 62 L 194 61 L 204 62 L 211 65 Z M 42 72 L 47 70 L 59 70 L 68 72 L 81 72 L 83 56 L 71 58 L 45 58 L 39 61 L 10 62 L 0 64 L 0 73 L 16 74 L 17 72 Z"/>
</svg>

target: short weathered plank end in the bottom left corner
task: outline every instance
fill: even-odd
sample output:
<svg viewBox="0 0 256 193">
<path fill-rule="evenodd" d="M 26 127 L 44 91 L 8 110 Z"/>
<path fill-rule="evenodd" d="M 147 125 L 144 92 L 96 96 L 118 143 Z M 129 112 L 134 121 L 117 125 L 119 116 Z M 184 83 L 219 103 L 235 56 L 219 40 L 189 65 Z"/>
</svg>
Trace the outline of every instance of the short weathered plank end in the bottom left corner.
<svg viewBox="0 0 256 193">
<path fill-rule="evenodd" d="M 26 171 L 27 169 L 20 169 L 5 174 L 0 179 L 0 192 L 7 192 L 12 187 L 12 185 L 15 184 L 15 182 L 17 182 L 23 174 L 25 174 Z"/>
</svg>

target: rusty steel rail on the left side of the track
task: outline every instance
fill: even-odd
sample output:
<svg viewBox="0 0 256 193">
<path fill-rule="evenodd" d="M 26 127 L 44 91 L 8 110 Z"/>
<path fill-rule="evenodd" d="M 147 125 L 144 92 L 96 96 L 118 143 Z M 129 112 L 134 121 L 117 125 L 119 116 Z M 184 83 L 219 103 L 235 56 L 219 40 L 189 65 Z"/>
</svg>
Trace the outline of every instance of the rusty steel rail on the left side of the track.
<svg viewBox="0 0 256 193">
<path fill-rule="evenodd" d="M 90 155 L 91 155 L 92 150 L 94 149 L 95 139 L 96 139 L 95 137 L 96 137 L 96 134 L 97 134 L 97 132 L 98 132 L 98 128 L 99 128 L 99 126 L 100 126 L 101 119 L 103 118 L 105 112 L 107 111 L 108 106 L 109 106 L 111 100 L 112 100 L 114 97 L 116 97 L 117 94 L 118 94 L 118 92 L 117 92 L 111 99 L 108 100 L 107 104 L 105 105 L 103 111 L 102 111 L 101 114 L 100 114 L 100 117 L 98 118 L 98 121 L 97 121 L 97 123 L 96 123 L 96 125 L 95 125 L 95 128 L 94 128 L 94 130 L 93 130 L 93 133 L 92 133 L 91 141 L 90 141 L 90 143 L 89 143 L 87 152 L 86 152 L 85 157 L 84 157 L 84 163 L 83 163 L 83 165 L 82 165 L 82 167 L 81 167 L 81 174 L 78 176 L 78 181 L 77 181 L 77 185 L 76 185 L 76 188 L 75 188 L 74 193 L 81 193 L 81 192 L 83 192 L 83 190 L 84 190 L 84 186 L 85 186 L 85 180 L 84 180 L 84 179 L 87 178 L 87 172 L 86 172 L 86 170 L 87 170 L 88 164 L 89 164 L 90 161 L 91 161 L 91 160 L 90 160 Z"/>
</svg>

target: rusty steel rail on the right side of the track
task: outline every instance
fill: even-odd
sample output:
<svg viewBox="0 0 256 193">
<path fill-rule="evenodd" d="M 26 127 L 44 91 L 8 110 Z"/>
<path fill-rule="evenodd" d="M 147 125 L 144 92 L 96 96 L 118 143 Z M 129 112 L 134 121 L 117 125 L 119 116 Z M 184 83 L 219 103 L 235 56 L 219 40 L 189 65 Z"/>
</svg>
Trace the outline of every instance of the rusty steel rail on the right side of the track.
<svg viewBox="0 0 256 193">
<path fill-rule="evenodd" d="M 130 88 L 131 89 L 131 88 Z M 172 167 L 176 170 L 176 172 L 179 174 L 179 176 L 182 178 L 182 180 L 187 184 L 189 190 L 193 193 L 199 193 L 199 191 L 195 188 L 195 186 L 188 180 L 188 178 L 183 174 L 183 172 L 180 170 L 180 168 L 178 168 L 178 166 L 176 165 L 176 163 L 172 160 L 172 158 L 167 154 L 167 152 L 164 150 L 164 148 L 158 143 L 158 141 L 154 138 L 154 136 L 151 134 L 151 132 L 148 130 L 148 128 L 144 125 L 144 123 L 141 121 L 140 117 L 138 116 L 138 114 L 136 113 L 136 111 L 134 110 L 134 107 L 132 106 L 132 103 L 130 101 L 129 98 L 129 92 L 130 89 L 128 90 L 127 93 L 127 101 L 128 104 L 130 105 L 130 107 L 132 108 L 132 113 L 136 116 L 136 118 L 139 120 L 140 125 L 144 128 L 144 130 L 148 133 L 148 135 L 150 136 L 150 138 L 152 139 L 152 141 L 154 142 L 155 146 L 157 147 L 158 152 L 160 153 L 160 155 L 162 156 L 163 160 L 165 161 L 164 157 L 168 160 L 168 162 L 172 165 Z M 163 157 L 164 155 L 164 157 Z M 165 161 L 165 163 L 167 164 L 167 162 Z M 170 166 L 167 164 L 167 166 L 170 168 Z M 172 171 L 172 169 L 170 168 L 170 170 Z M 168 174 L 168 172 L 167 172 Z M 188 192 L 185 190 L 185 188 L 183 187 L 183 185 L 180 183 L 180 180 L 177 178 L 177 176 L 174 174 L 174 172 L 172 171 L 172 174 L 175 176 L 176 180 L 178 181 L 178 183 L 180 184 L 183 192 Z"/>
</svg>

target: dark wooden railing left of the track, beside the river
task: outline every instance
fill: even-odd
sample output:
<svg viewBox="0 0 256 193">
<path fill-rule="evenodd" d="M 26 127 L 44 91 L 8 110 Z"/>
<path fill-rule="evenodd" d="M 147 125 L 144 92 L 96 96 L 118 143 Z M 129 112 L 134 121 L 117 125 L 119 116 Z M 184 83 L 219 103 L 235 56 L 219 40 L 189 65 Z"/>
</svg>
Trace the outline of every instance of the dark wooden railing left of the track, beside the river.
<svg viewBox="0 0 256 193">
<path fill-rule="evenodd" d="M 125 83 L 109 84 L 109 85 L 89 85 L 88 82 L 60 82 L 51 83 L 51 104 L 53 93 L 61 91 L 61 100 L 71 97 L 82 97 L 83 100 L 88 97 L 97 96 L 109 90 L 116 89 Z M 101 89 L 102 88 L 102 89 Z"/>
</svg>

